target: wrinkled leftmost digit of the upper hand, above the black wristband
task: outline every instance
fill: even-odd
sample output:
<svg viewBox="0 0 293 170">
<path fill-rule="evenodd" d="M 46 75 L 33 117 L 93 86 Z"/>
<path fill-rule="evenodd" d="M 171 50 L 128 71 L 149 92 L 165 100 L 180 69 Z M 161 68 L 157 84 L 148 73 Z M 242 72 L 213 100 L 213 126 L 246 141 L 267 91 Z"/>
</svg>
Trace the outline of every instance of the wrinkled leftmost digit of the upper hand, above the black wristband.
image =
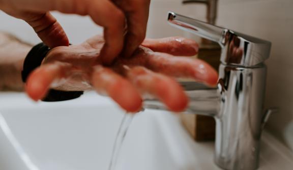
<svg viewBox="0 0 293 170">
<path fill-rule="evenodd" d="M 49 13 L 32 14 L 25 21 L 30 24 L 40 39 L 50 48 L 68 46 L 69 40 L 60 23 Z"/>
</svg>

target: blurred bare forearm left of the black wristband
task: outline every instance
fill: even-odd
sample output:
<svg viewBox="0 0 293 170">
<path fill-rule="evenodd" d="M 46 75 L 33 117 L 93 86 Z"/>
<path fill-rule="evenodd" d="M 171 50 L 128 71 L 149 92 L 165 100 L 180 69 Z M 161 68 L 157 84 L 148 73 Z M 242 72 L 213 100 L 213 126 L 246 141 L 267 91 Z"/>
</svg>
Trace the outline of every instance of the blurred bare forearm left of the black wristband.
<svg viewBox="0 0 293 170">
<path fill-rule="evenodd" d="M 22 91 L 21 70 L 32 45 L 0 32 L 0 91 Z"/>
</svg>

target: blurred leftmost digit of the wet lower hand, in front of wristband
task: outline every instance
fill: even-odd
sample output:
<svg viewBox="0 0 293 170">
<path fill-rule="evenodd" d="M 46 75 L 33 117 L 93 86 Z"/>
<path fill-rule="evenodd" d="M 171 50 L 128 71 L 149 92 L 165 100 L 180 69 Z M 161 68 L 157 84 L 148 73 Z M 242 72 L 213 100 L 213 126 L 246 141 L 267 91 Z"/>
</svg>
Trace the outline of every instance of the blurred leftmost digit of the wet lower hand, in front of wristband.
<svg viewBox="0 0 293 170">
<path fill-rule="evenodd" d="M 68 76 L 70 68 L 70 64 L 61 62 L 45 64 L 37 68 L 27 78 L 26 93 L 35 101 L 43 99 L 52 83 Z"/>
</svg>

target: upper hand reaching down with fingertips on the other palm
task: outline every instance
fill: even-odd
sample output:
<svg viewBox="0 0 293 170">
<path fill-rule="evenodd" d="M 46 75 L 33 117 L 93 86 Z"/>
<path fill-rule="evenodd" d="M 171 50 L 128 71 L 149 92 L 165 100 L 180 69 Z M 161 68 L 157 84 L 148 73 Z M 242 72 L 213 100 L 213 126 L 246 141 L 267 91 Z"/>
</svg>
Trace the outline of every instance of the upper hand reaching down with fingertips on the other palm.
<svg viewBox="0 0 293 170">
<path fill-rule="evenodd" d="M 150 0 L 0 0 L 1 10 L 30 24 L 51 48 L 68 46 L 69 41 L 62 26 L 48 11 L 91 16 L 104 27 L 105 44 L 100 55 L 103 64 L 108 65 L 121 52 L 131 56 L 141 44 L 149 6 Z"/>
</svg>

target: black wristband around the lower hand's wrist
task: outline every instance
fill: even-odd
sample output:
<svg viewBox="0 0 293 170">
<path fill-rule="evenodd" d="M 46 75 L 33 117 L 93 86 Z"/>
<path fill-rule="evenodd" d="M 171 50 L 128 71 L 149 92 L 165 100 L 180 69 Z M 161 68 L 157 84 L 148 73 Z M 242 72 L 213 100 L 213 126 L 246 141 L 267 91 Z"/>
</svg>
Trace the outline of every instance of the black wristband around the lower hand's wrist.
<svg viewBox="0 0 293 170">
<path fill-rule="evenodd" d="M 45 59 L 50 48 L 44 43 L 40 43 L 32 48 L 30 52 L 26 55 L 26 58 L 23 63 L 23 70 L 21 72 L 22 81 L 25 83 L 28 75 L 41 66 L 43 60 Z M 82 91 L 59 91 L 59 90 L 49 90 L 47 96 L 42 99 L 46 102 L 55 102 L 55 101 L 65 101 L 76 99 L 83 94 Z"/>
</svg>

